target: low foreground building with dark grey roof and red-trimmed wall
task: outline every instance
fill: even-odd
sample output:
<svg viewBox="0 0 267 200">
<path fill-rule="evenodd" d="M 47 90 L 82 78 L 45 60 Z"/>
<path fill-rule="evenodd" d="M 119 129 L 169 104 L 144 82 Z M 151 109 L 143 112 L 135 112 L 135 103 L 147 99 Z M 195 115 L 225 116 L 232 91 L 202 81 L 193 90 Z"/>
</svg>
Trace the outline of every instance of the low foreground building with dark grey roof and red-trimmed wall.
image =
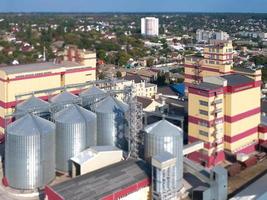
<svg viewBox="0 0 267 200">
<path fill-rule="evenodd" d="M 47 186 L 45 193 L 48 200 L 146 200 L 150 199 L 149 186 L 149 165 L 141 160 L 129 159 L 52 187 Z"/>
</svg>

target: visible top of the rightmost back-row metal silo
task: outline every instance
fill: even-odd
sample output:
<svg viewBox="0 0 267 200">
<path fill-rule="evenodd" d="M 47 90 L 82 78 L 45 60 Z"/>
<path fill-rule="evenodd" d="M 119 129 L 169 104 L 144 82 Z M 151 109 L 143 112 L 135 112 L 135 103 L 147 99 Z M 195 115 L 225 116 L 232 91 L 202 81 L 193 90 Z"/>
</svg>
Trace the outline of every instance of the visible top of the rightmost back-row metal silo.
<svg viewBox="0 0 267 200">
<path fill-rule="evenodd" d="M 84 90 L 80 93 L 80 97 L 82 97 L 82 105 L 86 109 L 91 109 L 94 107 L 94 103 L 103 99 L 106 95 L 106 91 L 102 90 L 96 86 L 92 86 L 91 88 Z"/>
</svg>

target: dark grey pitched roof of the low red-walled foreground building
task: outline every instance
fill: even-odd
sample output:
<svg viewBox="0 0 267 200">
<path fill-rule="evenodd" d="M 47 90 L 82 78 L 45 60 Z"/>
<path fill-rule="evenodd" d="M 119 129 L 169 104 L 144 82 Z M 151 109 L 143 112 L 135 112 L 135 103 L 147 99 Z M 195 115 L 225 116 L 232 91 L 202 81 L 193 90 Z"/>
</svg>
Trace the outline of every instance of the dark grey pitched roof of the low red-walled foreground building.
<svg viewBox="0 0 267 200">
<path fill-rule="evenodd" d="M 52 186 L 65 200 L 101 199 L 150 177 L 141 160 L 127 160 Z"/>
</svg>

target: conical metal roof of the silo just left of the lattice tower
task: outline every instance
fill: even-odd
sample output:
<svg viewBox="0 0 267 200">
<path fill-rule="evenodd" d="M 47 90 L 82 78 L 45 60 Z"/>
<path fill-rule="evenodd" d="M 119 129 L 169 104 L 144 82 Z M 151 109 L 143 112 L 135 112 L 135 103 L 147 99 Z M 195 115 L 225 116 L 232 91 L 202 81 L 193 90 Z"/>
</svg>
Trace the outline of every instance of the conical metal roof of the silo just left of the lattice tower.
<svg viewBox="0 0 267 200">
<path fill-rule="evenodd" d="M 116 109 L 126 112 L 129 109 L 129 106 L 115 97 L 108 96 L 96 104 L 95 111 L 100 113 L 111 113 Z"/>
</svg>

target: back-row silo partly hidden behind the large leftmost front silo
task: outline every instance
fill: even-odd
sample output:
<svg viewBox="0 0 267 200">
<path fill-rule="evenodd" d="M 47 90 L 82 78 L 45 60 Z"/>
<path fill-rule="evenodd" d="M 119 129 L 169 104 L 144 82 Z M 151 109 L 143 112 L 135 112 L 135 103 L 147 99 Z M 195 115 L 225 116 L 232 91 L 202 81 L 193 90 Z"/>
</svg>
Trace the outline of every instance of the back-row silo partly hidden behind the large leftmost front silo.
<svg viewBox="0 0 267 200">
<path fill-rule="evenodd" d="M 49 103 L 35 96 L 19 103 L 16 106 L 16 119 L 19 119 L 27 113 L 35 114 L 39 117 L 50 119 Z"/>
</svg>

